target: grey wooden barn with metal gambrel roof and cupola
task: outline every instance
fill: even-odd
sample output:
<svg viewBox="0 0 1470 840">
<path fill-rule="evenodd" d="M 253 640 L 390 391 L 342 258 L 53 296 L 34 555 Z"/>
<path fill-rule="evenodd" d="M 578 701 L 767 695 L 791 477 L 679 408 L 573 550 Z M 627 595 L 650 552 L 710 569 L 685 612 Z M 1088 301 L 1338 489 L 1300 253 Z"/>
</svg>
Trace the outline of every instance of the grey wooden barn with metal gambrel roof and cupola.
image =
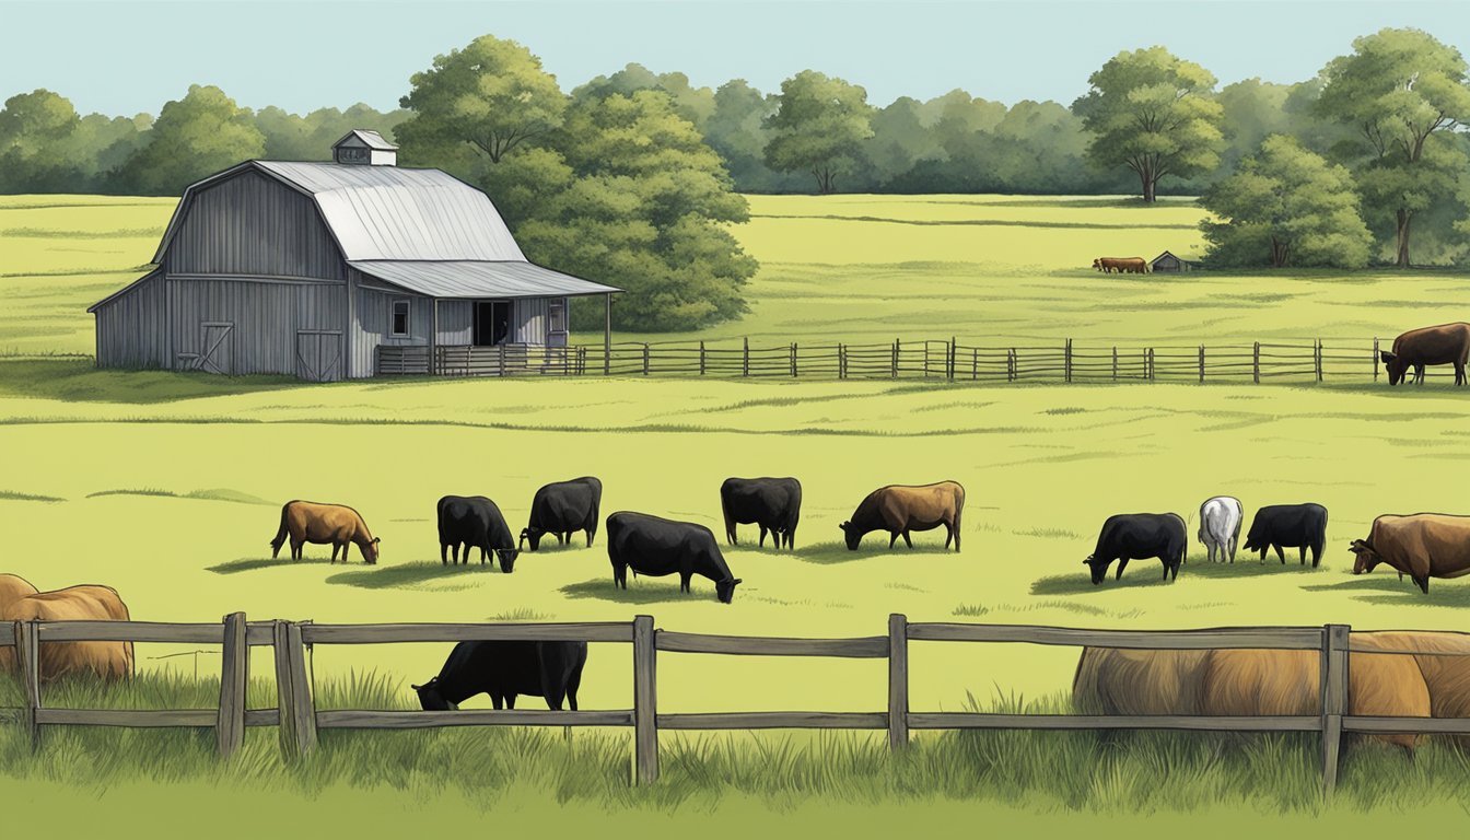
<svg viewBox="0 0 1470 840">
<path fill-rule="evenodd" d="M 564 363 L 567 299 L 482 191 L 353 131 L 332 163 L 247 160 L 184 191 L 153 271 L 97 302 L 97 365 L 312 381 Z M 604 334 L 604 341 L 610 337 Z"/>
</svg>

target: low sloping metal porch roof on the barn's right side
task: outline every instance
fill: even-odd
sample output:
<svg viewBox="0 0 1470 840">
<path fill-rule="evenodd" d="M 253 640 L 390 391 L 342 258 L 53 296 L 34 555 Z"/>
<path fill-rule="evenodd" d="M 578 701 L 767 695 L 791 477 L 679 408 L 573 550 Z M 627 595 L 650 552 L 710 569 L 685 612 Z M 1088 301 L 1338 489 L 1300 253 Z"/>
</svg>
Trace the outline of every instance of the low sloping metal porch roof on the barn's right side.
<svg viewBox="0 0 1470 840">
<path fill-rule="evenodd" d="M 622 291 L 525 259 L 348 260 L 357 271 L 429 297 L 578 297 Z"/>
</svg>

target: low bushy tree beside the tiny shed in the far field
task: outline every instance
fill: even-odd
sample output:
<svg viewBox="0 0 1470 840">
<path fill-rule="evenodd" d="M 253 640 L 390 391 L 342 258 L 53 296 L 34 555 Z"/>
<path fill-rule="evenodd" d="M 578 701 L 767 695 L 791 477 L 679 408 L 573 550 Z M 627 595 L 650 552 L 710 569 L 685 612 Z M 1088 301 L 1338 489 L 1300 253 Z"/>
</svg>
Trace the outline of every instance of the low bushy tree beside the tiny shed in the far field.
<svg viewBox="0 0 1470 840">
<path fill-rule="evenodd" d="M 1280 134 L 1200 200 L 1217 265 L 1361 268 L 1373 247 L 1348 169 Z"/>
</svg>

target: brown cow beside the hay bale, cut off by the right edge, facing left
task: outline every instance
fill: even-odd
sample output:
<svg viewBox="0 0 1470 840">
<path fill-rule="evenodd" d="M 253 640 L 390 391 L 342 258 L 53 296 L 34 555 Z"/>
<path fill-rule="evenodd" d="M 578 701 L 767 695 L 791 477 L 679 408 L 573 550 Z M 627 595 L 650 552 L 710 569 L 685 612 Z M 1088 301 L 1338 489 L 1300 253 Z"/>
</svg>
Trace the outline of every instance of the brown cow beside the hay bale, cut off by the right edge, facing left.
<svg viewBox="0 0 1470 840">
<path fill-rule="evenodd" d="M 1408 575 L 1429 594 L 1429 578 L 1470 574 L 1470 516 L 1445 513 L 1385 515 L 1373 519 L 1367 540 L 1352 540 L 1352 574 L 1372 572 L 1379 563 Z"/>
</svg>

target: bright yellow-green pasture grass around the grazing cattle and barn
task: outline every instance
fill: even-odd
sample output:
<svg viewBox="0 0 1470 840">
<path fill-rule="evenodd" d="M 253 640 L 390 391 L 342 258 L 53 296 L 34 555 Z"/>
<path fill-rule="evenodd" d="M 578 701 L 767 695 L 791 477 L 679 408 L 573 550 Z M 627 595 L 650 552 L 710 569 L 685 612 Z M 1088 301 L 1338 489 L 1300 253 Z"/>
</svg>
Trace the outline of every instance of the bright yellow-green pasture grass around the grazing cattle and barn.
<svg viewBox="0 0 1470 840">
<path fill-rule="evenodd" d="M 1127 628 L 1329 621 L 1466 627 L 1467 584 L 1435 581 L 1426 597 L 1392 574 L 1352 577 L 1347 552 L 1379 513 L 1464 512 L 1464 396 L 1442 380 L 1416 390 L 1367 381 L 306 385 L 98 372 L 85 357 L 93 347 L 85 306 L 138 275 L 171 209 L 171 200 L 153 199 L 0 199 L 0 571 L 43 588 L 107 583 L 137 619 L 215 621 L 241 609 L 253 619 L 319 622 L 626 621 L 651 613 L 669 630 L 770 636 L 873 636 L 883 633 L 889 612 L 911 621 Z M 736 229 L 763 265 L 748 287 L 751 313 L 698 337 L 1358 340 L 1461 319 L 1457 302 L 1470 285 L 1458 275 L 1419 271 L 1104 277 L 1088 268 L 1094 256 L 1197 255 L 1200 210 L 1186 202 L 1142 207 L 1092 199 L 839 196 L 753 197 L 751 209 L 753 221 Z M 731 606 L 716 603 L 701 580 L 692 596 L 681 596 L 670 578 L 614 590 L 601 538 L 592 549 L 578 543 L 523 556 L 509 577 L 478 563 L 438 563 L 432 513 L 441 494 L 491 496 L 519 530 L 537 487 L 584 474 L 603 478 L 604 512 L 647 510 L 716 531 L 725 477 L 795 475 L 804 485 L 797 550 L 728 550 L 745 580 Z M 857 553 L 841 546 L 836 525 L 864 493 L 942 478 L 969 491 L 963 553 L 941 552 L 936 533 L 917 535 L 913 552 L 886 552 L 876 537 Z M 1107 515 L 1197 516 L 1198 505 L 1217 493 L 1239 496 L 1248 516 L 1269 503 L 1326 505 L 1323 566 L 1301 568 L 1295 558 L 1286 566 L 1245 558 L 1208 566 L 1194 544 L 1176 584 L 1160 583 L 1158 565 L 1147 562 L 1135 562 L 1122 583 L 1088 583 L 1082 558 Z M 320 547 L 309 549 L 303 563 L 270 560 L 266 541 L 279 505 L 294 497 L 357 508 L 382 538 L 382 563 L 365 566 L 354 553 L 350 565 L 332 568 Z M 315 672 L 319 680 L 370 672 L 387 697 L 407 703 L 407 683 L 437 672 L 447 650 L 318 647 Z M 156 659 L 178 652 L 140 646 L 140 666 L 160 678 L 193 677 L 194 658 Z M 1076 652 L 916 643 L 911 658 L 914 711 L 956 711 L 1057 703 Z M 198 658 L 197 668 L 207 678 L 210 659 Z M 664 655 L 659 680 L 660 708 L 669 712 L 879 711 L 886 669 L 882 662 Z M 582 708 L 629 702 L 626 649 L 594 646 Z M 251 738 L 269 753 L 273 733 L 257 730 Z M 826 749 L 811 738 L 788 743 L 808 758 Z M 1164 755 L 1147 761 L 1169 761 Z M 1117 771 L 1114 789 L 1080 799 L 1016 799 L 1017 787 L 966 778 L 997 791 L 982 797 L 997 814 L 1067 812 L 1100 808 L 1110 796 L 1133 802 L 1147 761 Z M 1458 766 L 1458 759 L 1444 761 Z M 716 778 L 725 772 L 717 764 L 691 766 Z M 41 778 L 26 775 L 26 784 L 40 786 L 35 796 L 56 794 L 46 793 Z M 1204 777 L 1198 789 L 1210 781 Z M 1379 781 L 1367 790 L 1380 791 Z M 412 791 L 420 783 L 382 784 Z M 1241 786 L 1232 790 L 1250 790 Z M 791 809 L 804 802 L 801 790 L 798 783 L 734 786 L 722 802 L 748 797 Z M 888 796 L 882 790 L 872 793 Z M 325 786 L 315 796 L 356 793 Z M 579 808 L 625 805 L 598 796 L 570 799 Z M 700 796 L 714 808 L 717 797 Z M 1235 796 L 1173 805 L 1147 799 L 1147 809 L 1208 809 Z M 973 805 L 954 790 L 942 799 Z M 1392 808 L 1382 791 L 1354 802 Z M 1272 814 L 1276 803 L 1263 811 Z M 816 796 L 811 808 L 819 805 L 833 806 Z M 850 815 L 866 806 L 839 805 Z M 1126 819 L 1117 824 L 1117 831 L 1133 828 Z"/>
</svg>

